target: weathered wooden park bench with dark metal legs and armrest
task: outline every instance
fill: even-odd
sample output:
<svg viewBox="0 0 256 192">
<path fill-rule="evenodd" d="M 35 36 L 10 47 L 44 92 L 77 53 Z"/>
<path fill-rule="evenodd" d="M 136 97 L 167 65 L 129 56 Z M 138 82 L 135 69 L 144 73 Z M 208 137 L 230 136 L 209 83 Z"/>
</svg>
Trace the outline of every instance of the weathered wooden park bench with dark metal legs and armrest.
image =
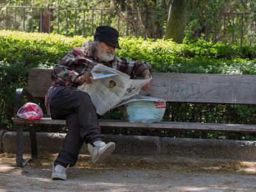
<svg viewBox="0 0 256 192">
<path fill-rule="evenodd" d="M 190 102 L 209 104 L 256 104 L 256 76 L 222 75 L 222 74 L 173 74 L 163 72 L 152 73 L 152 88 L 147 95 L 170 102 Z M 18 88 L 15 93 L 15 105 L 22 106 L 22 97 L 27 102 L 44 99 L 52 84 L 51 69 L 31 68 L 28 77 L 28 90 Z M 65 120 L 26 120 L 13 118 L 17 127 L 17 166 L 24 166 L 29 160 L 22 162 L 22 138 L 24 125 L 66 125 Z M 246 124 L 206 124 L 188 122 L 131 123 L 121 120 L 99 120 L 101 127 L 125 127 L 140 129 L 189 129 L 195 131 L 234 131 L 256 132 L 256 125 Z M 29 126 L 31 140 L 31 159 L 37 158 L 35 126 Z"/>
</svg>

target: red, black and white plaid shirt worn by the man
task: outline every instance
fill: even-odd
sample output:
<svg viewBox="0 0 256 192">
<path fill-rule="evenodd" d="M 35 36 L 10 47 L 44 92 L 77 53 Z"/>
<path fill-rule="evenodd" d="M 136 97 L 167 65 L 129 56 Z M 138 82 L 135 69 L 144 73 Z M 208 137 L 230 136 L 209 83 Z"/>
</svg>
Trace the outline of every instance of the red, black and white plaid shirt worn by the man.
<svg viewBox="0 0 256 192">
<path fill-rule="evenodd" d="M 81 85 L 74 83 L 76 77 L 83 75 L 85 72 L 100 63 L 95 56 L 84 51 L 84 47 L 76 47 L 65 54 L 61 61 L 52 70 L 51 78 L 54 81 L 51 88 L 45 96 L 45 106 L 51 116 L 50 104 L 52 98 L 63 90 L 63 88 L 74 87 Z M 114 57 L 112 61 L 101 62 L 111 68 L 115 68 L 131 76 L 131 79 L 136 79 L 145 69 L 151 68 L 151 64 L 142 61 L 129 61 L 125 58 Z"/>
</svg>

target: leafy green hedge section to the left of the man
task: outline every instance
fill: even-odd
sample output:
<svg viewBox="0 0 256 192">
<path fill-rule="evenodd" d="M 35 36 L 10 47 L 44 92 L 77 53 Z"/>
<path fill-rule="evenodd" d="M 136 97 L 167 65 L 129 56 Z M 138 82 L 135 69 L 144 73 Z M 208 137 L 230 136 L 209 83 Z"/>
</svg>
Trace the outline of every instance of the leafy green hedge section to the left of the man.
<svg viewBox="0 0 256 192">
<path fill-rule="evenodd" d="M 84 41 L 80 36 L 0 31 L 0 125 L 10 126 L 15 90 L 26 88 L 28 69 L 52 67 L 69 49 Z"/>
</svg>

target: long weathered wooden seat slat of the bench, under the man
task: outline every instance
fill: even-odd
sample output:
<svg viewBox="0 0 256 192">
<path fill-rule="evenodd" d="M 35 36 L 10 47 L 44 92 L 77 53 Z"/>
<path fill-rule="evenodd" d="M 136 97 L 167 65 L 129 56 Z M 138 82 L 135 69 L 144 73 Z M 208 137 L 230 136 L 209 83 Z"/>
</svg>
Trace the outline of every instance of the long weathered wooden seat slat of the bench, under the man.
<svg viewBox="0 0 256 192">
<path fill-rule="evenodd" d="M 65 120 L 52 120 L 41 118 L 40 120 L 26 120 L 24 118 L 12 118 L 14 124 L 37 124 L 37 125 L 66 125 Z M 196 131 L 233 131 L 233 132 L 256 132 L 256 125 L 246 124 L 202 124 L 191 122 L 158 122 L 158 123 L 136 123 L 122 120 L 99 120 L 100 127 L 120 127 L 132 129 L 188 129 Z"/>
</svg>

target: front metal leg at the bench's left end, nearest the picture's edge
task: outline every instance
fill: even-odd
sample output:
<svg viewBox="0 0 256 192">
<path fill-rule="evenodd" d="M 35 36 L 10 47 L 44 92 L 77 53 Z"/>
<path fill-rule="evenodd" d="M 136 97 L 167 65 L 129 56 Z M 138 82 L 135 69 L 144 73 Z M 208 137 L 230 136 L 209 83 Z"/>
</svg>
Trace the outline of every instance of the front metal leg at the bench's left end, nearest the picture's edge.
<svg viewBox="0 0 256 192">
<path fill-rule="evenodd" d="M 16 166 L 23 167 L 23 163 L 22 163 L 23 126 L 16 125 L 16 127 L 17 127 Z"/>
</svg>

